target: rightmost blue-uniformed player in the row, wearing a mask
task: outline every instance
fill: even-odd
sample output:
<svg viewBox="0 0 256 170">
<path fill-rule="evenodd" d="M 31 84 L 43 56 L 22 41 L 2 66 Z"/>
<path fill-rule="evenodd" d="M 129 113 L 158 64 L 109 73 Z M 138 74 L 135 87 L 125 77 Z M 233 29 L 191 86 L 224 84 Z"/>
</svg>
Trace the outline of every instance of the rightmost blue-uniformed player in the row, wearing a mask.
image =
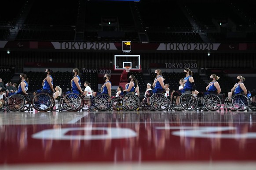
<svg viewBox="0 0 256 170">
<path fill-rule="evenodd" d="M 231 101 L 231 97 L 235 94 L 242 94 L 247 95 L 247 89 L 245 87 L 245 84 L 243 83 L 245 81 L 245 78 L 241 75 L 238 75 L 237 83 L 234 85 L 234 87 L 231 89 L 231 92 L 228 92 L 227 96 L 229 101 Z"/>
</svg>

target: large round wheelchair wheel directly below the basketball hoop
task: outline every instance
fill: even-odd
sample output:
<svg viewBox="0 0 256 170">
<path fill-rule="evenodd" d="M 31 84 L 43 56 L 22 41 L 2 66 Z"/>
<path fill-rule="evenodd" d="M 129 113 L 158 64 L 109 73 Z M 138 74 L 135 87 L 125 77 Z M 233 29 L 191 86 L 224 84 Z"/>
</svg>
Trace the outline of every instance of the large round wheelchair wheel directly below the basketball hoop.
<svg viewBox="0 0 256 170">
<path fill-rule="evenodd" d="M 139 108 L 139 97 L 135 96 L 133 94 L 127 94 L 122 99 L 122 106 L 124 107 L 124 110 L 128 111 L 134 111 Z"/>
</svg>

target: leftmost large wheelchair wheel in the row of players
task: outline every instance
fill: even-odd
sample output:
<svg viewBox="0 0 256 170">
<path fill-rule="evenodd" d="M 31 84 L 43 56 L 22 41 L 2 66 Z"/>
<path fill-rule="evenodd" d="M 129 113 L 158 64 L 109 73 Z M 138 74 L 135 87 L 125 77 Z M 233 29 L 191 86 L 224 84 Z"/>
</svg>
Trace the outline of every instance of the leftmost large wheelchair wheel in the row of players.
<svg viewBox="0 0 256 170">
<path fill-rule="evenodd" d="M 18 112 L 22 110 L 25 106 L 26 99 L 20 94 L 14 94 L 7 97 L 6 99 L 6 108 L 12 112 Z"/>
</svg>

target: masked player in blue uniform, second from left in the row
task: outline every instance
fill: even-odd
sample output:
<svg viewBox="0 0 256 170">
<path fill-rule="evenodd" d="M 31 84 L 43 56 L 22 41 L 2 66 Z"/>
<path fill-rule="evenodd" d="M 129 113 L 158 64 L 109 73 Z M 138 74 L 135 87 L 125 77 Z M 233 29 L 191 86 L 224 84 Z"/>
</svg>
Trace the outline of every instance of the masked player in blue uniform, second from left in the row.
<svg viewBox="0 0 256 170">
<path fill-rule="evenodd" d="M 33 94 L 36 95 L 38 93 L 44 92 L 44 93 L 48 93 L 51 94 L 51 92 L 55 92 L 55 90 L 53 89 L 53 78 L 51 77 L 51 74 L 53 73 L 53 71 L 48 68 L 45 70 L 44 74 L 46 76 L 46 78 L 44 78 L 43 82 L 42 82 L 42 89 L 37 90 L 36 92 L 34 92 Z"/>
</svg>

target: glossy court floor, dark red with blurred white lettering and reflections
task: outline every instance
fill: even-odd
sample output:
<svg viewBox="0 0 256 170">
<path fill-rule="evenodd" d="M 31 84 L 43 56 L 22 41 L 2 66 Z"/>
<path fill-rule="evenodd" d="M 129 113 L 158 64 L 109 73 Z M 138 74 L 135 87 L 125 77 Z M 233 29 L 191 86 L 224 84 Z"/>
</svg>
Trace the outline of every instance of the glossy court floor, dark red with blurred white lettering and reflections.
<svg viewBox="0 0 256 170">
<path fill-rule="evenodd" d="M 0 112 L 0 169 L 253 169 L 255 112 Z"/>
</svg>

